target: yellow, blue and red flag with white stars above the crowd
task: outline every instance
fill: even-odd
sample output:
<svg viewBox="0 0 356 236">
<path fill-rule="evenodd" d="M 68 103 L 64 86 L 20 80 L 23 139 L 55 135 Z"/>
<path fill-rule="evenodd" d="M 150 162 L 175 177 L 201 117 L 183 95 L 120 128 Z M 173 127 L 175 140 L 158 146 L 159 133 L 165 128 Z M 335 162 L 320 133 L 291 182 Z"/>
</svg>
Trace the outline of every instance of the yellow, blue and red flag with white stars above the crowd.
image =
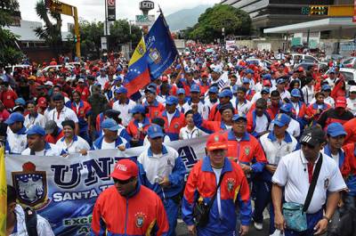
<svg viewBox="0 0 356 236">
<path fill-rule="evenodd" d="M 128 71 L 124 78 L 127 96 L 131 97 L 131 95 L 148 84 L 150 84 L 150 72 L 147 64 L 146 45 L 142 37 L 128 63 Z"/>
</svg>

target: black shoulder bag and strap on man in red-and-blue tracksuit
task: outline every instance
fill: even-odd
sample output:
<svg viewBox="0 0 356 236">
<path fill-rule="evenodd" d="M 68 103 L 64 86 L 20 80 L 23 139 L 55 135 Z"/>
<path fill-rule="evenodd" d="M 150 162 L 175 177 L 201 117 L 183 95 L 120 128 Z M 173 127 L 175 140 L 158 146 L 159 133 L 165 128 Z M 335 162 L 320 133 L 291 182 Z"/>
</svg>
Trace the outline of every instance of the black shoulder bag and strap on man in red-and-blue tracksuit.
<svg viewBox="0 0 356 236">
<path fill-rule="evenodd" d="M 225 173 L 222 173 L 219 178 L 219 183 L 216 186 L 216 190 L 214 193 L 214 196 L 212 199 L 210 199 L 209 203 L 204 203 L 204 202 L 198 202 L 198 199 L 195 203 L 194 209 L 193 209 L 193 216 L 195 218 L 195 222 L 199 228 L 203 228 L 206 226 L 207 222 L 209 221 L 209 214 L 210 214 L 210 209 L 213 206 L 214 200 L 216 198 L 217 191 L 220 187 L 220 184 L 223 181 L 223 175 Z"/>
</svg>

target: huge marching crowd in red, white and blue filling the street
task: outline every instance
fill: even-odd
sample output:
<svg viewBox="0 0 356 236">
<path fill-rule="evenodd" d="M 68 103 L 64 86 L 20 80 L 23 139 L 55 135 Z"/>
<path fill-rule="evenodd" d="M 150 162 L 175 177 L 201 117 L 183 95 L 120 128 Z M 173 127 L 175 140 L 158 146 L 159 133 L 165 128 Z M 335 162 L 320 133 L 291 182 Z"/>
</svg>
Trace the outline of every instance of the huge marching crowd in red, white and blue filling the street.
<svg viewBox="0 0 356 236">
<path fill-rule="evenodd" d="M 268 207 L 270 234 L 321 234 L 337 229 L 328 227 L 335 211 L 355 208 L 356 85 L 346 83 L 340 61 L 327 70 L 297 67 L 301 61 L 194 44 L 135 100 L 120 57 L 0 69 L 0 136 L 6 153 L 22 155 L 146 148 L 136 163 L 117 162 L 114 186 L 93 209 L 94 235 L 175 235 L 181 206 L 193 234 L 247 235 L 252 221 L 263 230 Z M 206 158 L 185 182 L 188 170 L 169 142 L 203 135 Z M 290 225 L 284 213 L 295 206 L 286 203 L 309 205 L 302 230 Z M 197 207 L 207 211 L 205 224 Z"/>
</svg>

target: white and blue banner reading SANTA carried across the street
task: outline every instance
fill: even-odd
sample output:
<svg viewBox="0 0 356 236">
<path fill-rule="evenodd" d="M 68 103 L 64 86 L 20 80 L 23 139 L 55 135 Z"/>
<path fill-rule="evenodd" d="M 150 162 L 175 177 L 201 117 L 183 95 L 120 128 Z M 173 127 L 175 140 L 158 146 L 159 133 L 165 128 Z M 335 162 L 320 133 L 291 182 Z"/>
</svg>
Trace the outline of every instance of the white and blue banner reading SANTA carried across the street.
<svg viewBox="0 0 356 236">
<path fill-rule="evenodd" d="M 170 142 L 190 169 L 206 155 L 206 138 Z M 55 235 L 89 235 L 93 204 L 113 184 L 109 174 L 117 159 L 136 160 L 147 147 L 124 152 L 89 151 L 88 155 L 6 157 L 7 183 L 14 186 L 21 205 L 35 208 L 53 226 Z"/>
</svg>

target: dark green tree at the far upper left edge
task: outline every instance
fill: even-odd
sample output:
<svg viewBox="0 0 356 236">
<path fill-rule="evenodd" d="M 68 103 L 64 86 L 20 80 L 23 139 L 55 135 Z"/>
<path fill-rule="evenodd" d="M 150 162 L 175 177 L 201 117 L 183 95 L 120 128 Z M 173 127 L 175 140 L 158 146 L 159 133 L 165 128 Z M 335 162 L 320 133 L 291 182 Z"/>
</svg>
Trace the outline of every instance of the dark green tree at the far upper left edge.
<svg viewBox="0 0 356 236">
<path fill-rule="evenodd" d="M 12 23 L 12 15 L 19 9 L 17 0 L 8 0 L 0 2 L 0 66 L 16 64 L 20 61 L 22 53 L 16 45 L 18 37 L 9 29 L 4 27 Z"/>
</svg>

